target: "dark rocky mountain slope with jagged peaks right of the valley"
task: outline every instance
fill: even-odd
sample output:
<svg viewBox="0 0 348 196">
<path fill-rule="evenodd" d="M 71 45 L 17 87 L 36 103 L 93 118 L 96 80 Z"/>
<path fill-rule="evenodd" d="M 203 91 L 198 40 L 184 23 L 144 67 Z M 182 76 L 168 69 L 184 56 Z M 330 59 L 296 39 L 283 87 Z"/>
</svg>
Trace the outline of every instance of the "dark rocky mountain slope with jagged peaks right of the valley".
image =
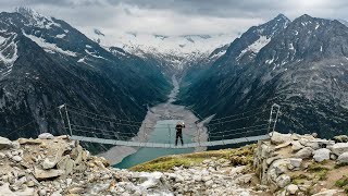
<svg viewBox="0 0 348 196">
<path fill-rule="evenodd" d="M 232 42 L 182 100 L 216 118 L 276 102 L 281 131 L 339 134 L 347 128 L 347 35 L 338 21 L 278 15 Z"/>
</svg>

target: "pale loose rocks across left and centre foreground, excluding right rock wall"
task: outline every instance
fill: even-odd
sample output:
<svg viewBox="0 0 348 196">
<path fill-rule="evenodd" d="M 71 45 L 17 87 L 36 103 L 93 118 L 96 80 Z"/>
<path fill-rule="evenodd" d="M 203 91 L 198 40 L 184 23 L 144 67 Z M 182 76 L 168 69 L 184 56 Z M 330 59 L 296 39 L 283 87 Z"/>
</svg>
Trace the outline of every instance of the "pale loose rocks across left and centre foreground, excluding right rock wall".
<svg viewBox="0 0 348 196">
<path fill-rule="evenodd" d="M 163 173 L 132 172 L 90 156 L 69 136 L 0 137 L 0 195 L 256 195 L 239 186 L 256 177 L 243 170 L 212 158 Z"/>
</svg>

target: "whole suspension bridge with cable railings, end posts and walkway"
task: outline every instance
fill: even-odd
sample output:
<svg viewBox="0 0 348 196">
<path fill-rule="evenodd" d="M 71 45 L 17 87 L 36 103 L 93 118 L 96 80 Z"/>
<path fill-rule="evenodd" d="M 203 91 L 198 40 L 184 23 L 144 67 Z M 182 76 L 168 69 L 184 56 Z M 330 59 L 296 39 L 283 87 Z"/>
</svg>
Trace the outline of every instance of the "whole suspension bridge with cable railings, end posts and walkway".
<svg viewBox="0 0 348 196">
<path fill-rule="evenodd" d="M 183 133 L 190 133 L 192 139 L 177 146 L 174 143 L 176 123 L 137 122 L 101 115 L 69 105 L 60 106 L 59 113 L 67 134 L 75 140 L 129 147 L 195 148 L 268 139 L 275 130 L 279 108 L 274 103 L 271 109 L 254 109 L 212 119 L 200 126 L 199 123 L 186 124 Z M 161 128 L 167 134 L 167 138 L 165 140 L 150 139 L 154 128 Z"/>
</svg>

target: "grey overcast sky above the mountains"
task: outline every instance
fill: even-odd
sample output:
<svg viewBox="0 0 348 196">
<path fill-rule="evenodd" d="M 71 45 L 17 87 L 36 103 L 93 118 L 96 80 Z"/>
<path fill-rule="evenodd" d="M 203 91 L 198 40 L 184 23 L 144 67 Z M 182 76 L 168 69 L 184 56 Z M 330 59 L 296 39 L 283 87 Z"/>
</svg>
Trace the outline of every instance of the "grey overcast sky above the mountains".
<svg viewBox="0 0 348 196">
<path fill-rule="evenodd" d="M 162 35 L 237 34 L 283 13 L 348 19 L 347 0 L 0 0 L 0 10 L 29 7 L 77 28 Z"/>
</svg>

